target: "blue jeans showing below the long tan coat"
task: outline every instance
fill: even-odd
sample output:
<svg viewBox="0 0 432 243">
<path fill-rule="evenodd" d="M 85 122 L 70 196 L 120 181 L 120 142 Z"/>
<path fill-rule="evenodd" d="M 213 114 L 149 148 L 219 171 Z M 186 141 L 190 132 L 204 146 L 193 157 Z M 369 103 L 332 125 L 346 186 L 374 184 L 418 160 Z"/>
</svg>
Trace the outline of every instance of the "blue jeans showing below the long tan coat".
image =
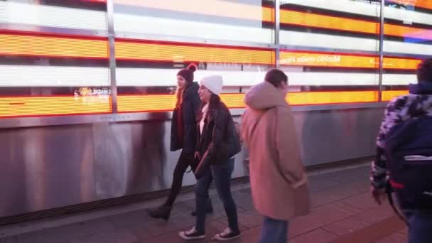
<svg viewBox="0 0 432 243">
<path fill-rule="evenodd" d="M 286 243 L 288 234 L 288 221 L 274 220 L 264 216 L 261 229 L 260 243 Z"/>
</svg>

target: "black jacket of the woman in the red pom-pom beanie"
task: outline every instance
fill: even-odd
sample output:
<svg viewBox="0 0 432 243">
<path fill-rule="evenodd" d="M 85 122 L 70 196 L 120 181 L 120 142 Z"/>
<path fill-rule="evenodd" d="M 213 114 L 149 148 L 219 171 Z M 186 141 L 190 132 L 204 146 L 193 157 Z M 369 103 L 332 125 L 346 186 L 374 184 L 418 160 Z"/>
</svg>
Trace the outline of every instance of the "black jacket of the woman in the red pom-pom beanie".
<svg viewBox="0 0 432 243">
<path fill-rule="evenodd" d="M 197 138 L 195 124 L 201 105 L 198 88 L 197 82 L 187 87 L 183 93 L 180 109 L 174 109 L 171 122 L 171 151 L 183 148 L 185 153 L 195 152 Z"/>
</svg>

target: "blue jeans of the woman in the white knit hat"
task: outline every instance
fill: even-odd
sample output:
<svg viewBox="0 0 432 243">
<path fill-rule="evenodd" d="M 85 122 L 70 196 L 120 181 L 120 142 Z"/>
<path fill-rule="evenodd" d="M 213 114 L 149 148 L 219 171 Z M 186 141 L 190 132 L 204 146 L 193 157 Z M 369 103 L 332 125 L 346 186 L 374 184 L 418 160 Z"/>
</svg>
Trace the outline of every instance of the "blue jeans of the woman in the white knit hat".
<svg viewBox="0 0 432 243">
<path fill-rule="evenodd" d="M 225 212 L 227 213 L 229 227 L 233 232 L 239 232 L 239 224 L 237 220 L 237 207 L 231 195 L 231 174 L 234 171 L 234 158 L 230 158 L 227 162 L 221 165 L 210 166 L 210 170 L 205 172 L 197 181 L 195 188 L 195 203 L 196 203 L 196 223 L 195 229 L 205 233 L 205 211 L 208 202 L 208 189 L 212 180 L 215 180 L 217 194 L 222 200 Z"/>
</svg>

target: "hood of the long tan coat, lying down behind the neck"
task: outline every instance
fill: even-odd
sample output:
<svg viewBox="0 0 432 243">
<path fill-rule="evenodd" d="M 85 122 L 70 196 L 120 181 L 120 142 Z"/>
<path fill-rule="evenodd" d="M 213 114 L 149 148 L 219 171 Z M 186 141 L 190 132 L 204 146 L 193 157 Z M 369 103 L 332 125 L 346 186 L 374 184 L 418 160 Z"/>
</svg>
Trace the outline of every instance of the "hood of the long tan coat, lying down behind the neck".
<svg viewBox="0 0 432 243">
<path fill-rule="evenodd" d="M 261 82 L 247 92 L 244 103 L 252 109 L 270 109 L 285 106 L 286 100 L 281 91 L 269 82 Z"/>
</svg>

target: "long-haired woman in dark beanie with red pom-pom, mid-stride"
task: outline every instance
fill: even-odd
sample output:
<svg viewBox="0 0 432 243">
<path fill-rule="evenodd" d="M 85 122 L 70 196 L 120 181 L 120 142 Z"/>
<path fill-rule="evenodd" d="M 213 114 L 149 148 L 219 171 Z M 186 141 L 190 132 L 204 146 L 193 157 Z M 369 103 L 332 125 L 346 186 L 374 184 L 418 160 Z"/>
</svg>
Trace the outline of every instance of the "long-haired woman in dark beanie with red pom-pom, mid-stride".
<svg viewBox="0 0 432 243">
<path fill-rule="evenodd" d="M 193 72 L 197 70 L 194 63 L 177 73 L 176 104 L 171 121 L 171 151 L 182 149 L 173 173 L 173 183 L 166 202 L 160 207 L 148 209 L 148 215 L 168 220 L 171 209 L 183 183 L 183 175 L 189 166 L 193 165 L 193 155 L 197 138 L 196 116 L 201 101 L 198 96 L 199 85 L 193 82 Z M 192 168 L 195 170 L 195 168 Z M 207 212 L 212 212 L 211 202 Z M 194 212 L 193 212 L 194 214 Z"/>
</svg>

